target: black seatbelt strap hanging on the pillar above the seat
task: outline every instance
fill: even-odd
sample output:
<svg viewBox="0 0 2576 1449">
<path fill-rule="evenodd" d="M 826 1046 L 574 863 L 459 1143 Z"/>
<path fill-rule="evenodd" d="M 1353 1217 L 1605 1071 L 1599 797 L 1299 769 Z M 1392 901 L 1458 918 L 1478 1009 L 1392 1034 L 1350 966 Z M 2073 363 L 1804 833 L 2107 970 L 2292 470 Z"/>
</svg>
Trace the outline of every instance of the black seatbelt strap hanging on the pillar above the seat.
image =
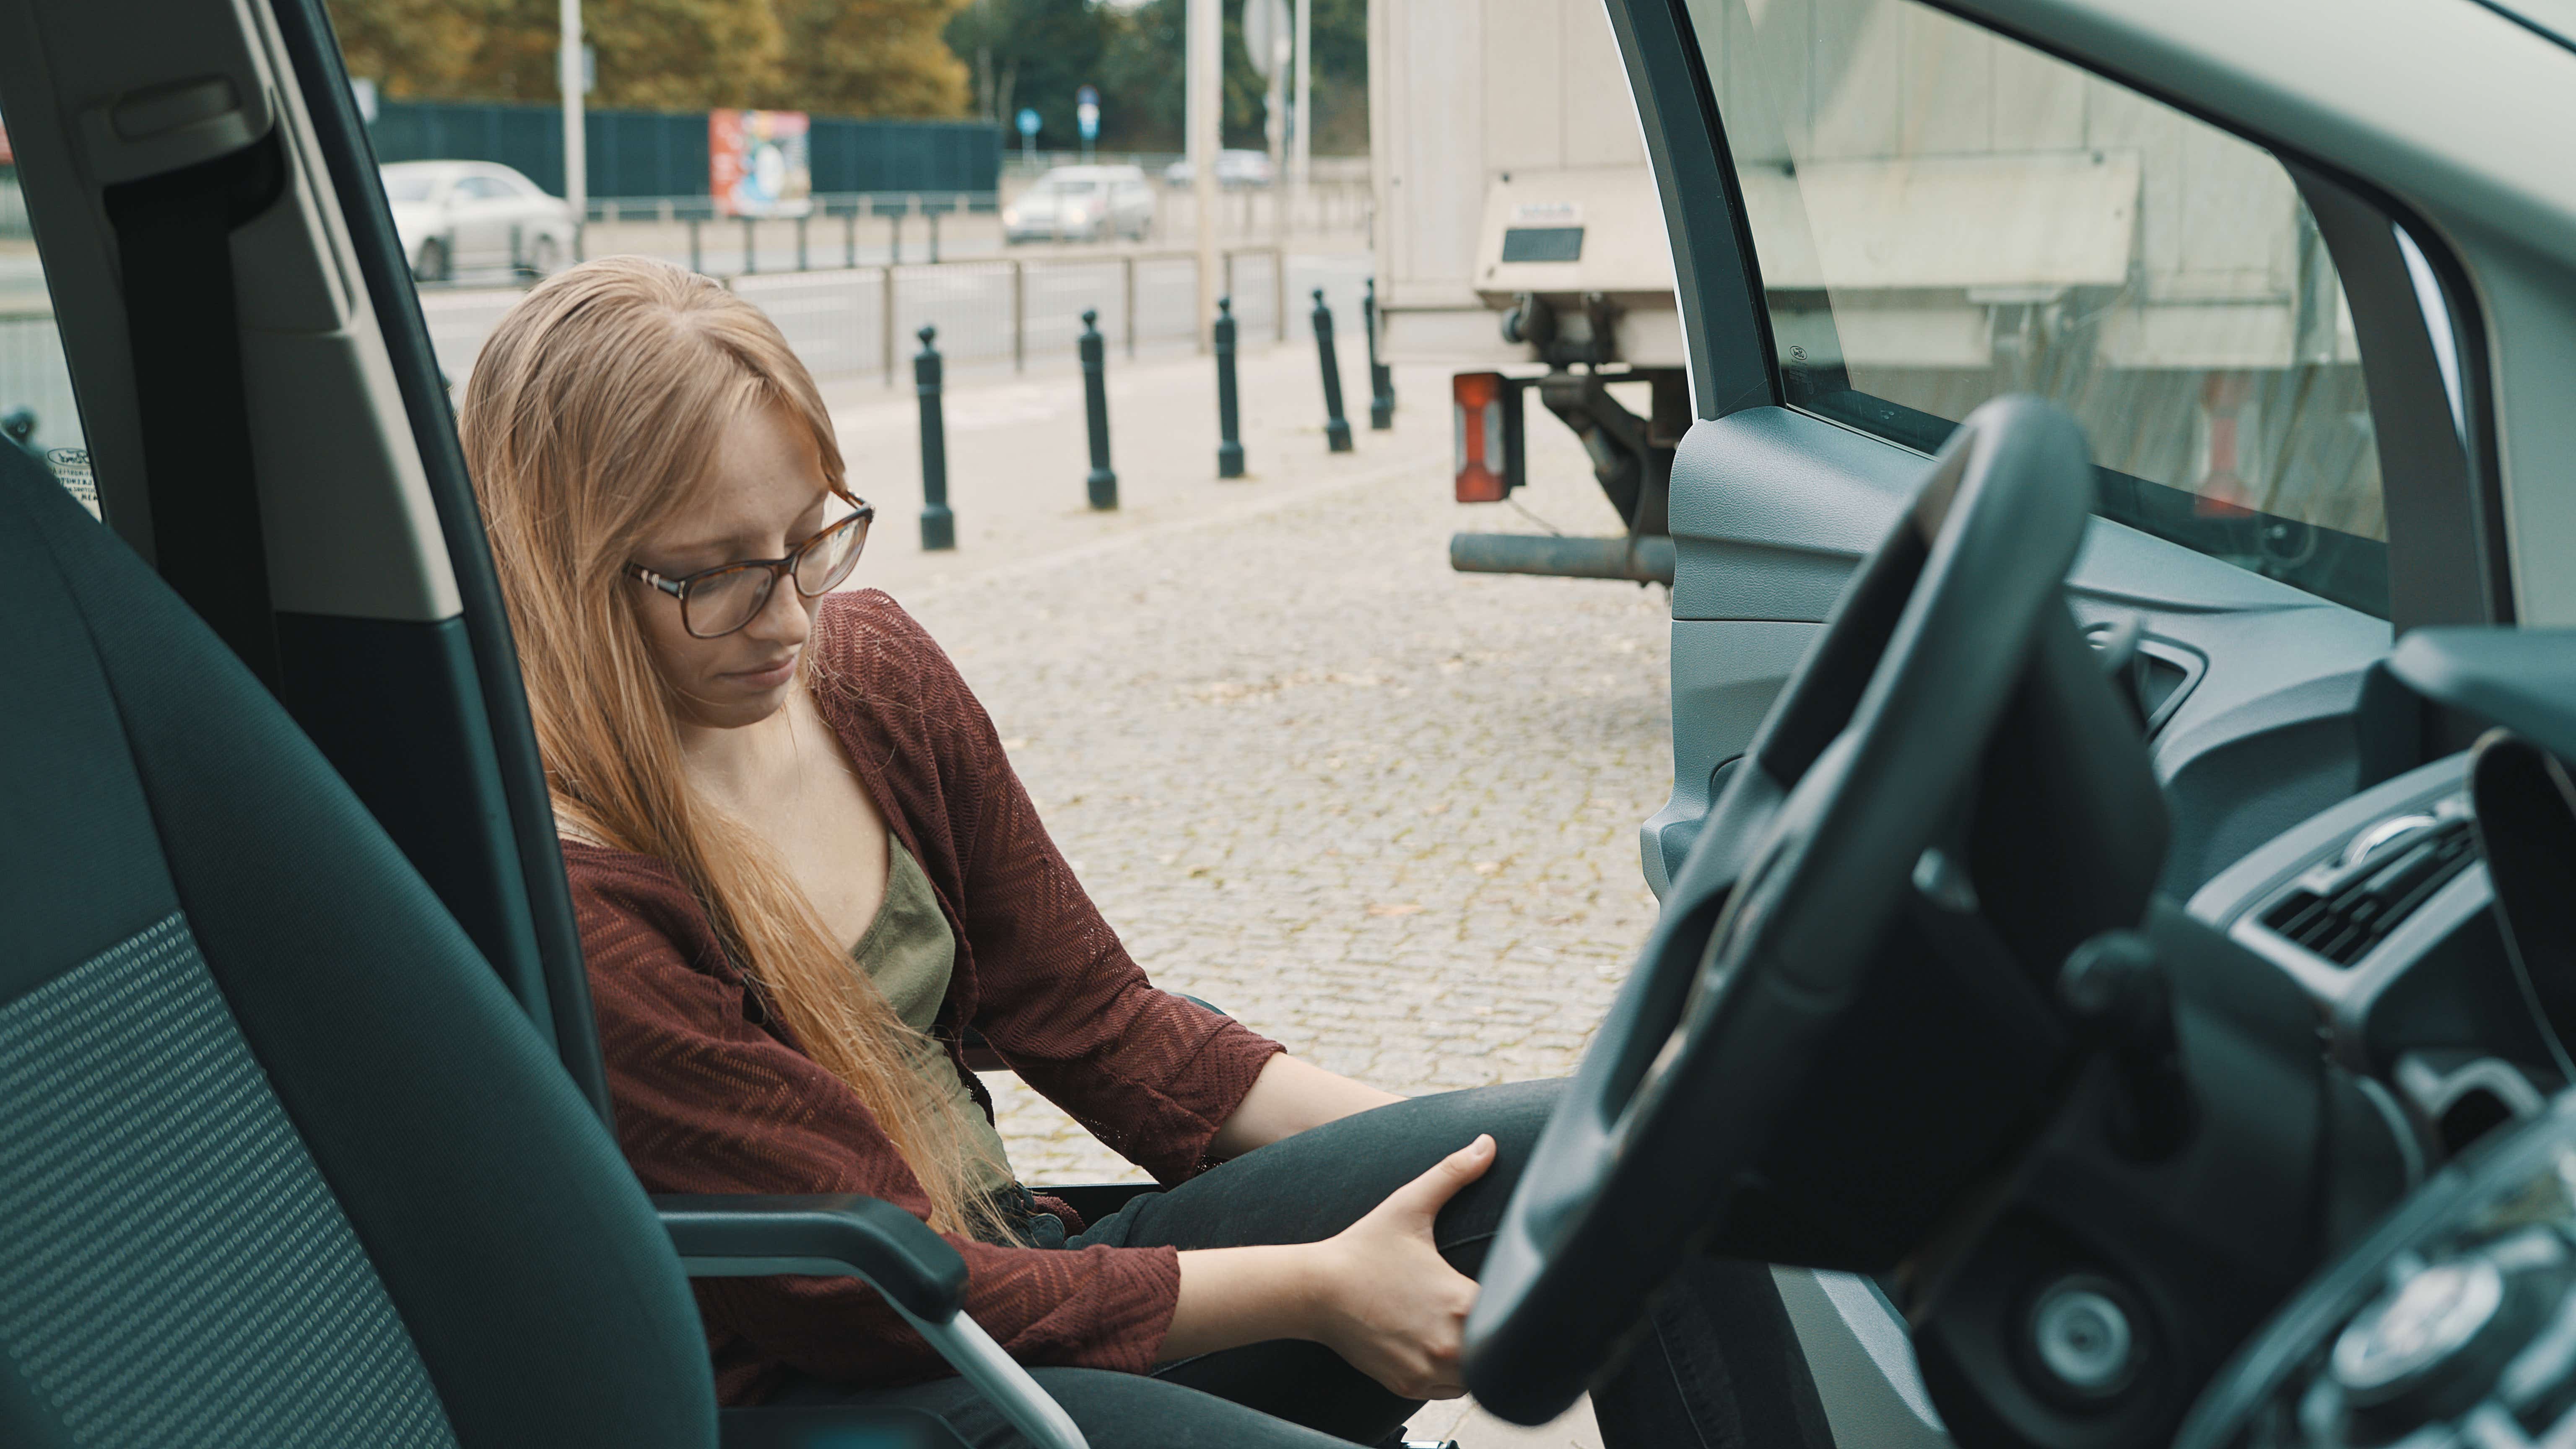
<svg viewBox="0 0 2576 1449">
<path fill-rule="evenodd" d="M 250 673 L 278 691 L 268 541 L 232 289 L 232 232 L 286 186 L 278 137 L 106 188 L 142 415 L 152 554 Z"/>
</svg>

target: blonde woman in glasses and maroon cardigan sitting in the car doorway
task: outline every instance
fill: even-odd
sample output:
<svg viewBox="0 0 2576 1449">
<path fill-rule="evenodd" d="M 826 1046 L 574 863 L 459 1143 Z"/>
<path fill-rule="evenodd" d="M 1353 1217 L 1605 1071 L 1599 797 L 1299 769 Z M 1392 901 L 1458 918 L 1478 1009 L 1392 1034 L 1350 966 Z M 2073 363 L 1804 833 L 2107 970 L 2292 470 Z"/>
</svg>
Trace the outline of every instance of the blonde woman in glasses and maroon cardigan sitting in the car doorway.
<svg viewBox="0 0 2576 1449">
<path fill-rule="evenodd" d="M 757 307 L 641 258 L 564 271 L 492 333 L 461 431 L 647 1189 L 914 1212 L 1103 1444 L 1376 1444 L 1461 1392 L 1468 1274 L 1553 1085 L 1406 1101 L 1154 990 L 940 647 L 832 593 L 871 513 Z M 1170 1191 L 1084 1225 L 1020 1189 L 969 1029 Z M 1597 1395 L 1613 1444 L 1821 1423 L 1767 1276 L 1703 1276 Z M 1010 1441 L 858 1281 L 696 1292 L 729 1405 Z M 1736 1395 L 1726 1336 L 1777 1385 Z"/>
</svg>

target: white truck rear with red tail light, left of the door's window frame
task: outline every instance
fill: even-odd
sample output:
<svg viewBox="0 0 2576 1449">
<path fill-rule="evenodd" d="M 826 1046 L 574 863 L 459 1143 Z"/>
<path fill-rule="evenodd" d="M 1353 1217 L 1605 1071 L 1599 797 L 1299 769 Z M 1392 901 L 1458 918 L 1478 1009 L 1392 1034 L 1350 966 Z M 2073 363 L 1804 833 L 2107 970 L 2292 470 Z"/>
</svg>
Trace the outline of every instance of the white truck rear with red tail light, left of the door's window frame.
<svg viewBox="0 0 2576 1449">
<path fill-rule="evenodd" d="M 1672 583 L 1690 428 L 1672 250 L 1600 0 L 1373 0 L 1378 348 L 1458 369 L 1458 500 L 1522 482 L 1525 394 L 1584 441 L 1628 534 L 1458 534 L 1473 572 Z"/>
</svg>

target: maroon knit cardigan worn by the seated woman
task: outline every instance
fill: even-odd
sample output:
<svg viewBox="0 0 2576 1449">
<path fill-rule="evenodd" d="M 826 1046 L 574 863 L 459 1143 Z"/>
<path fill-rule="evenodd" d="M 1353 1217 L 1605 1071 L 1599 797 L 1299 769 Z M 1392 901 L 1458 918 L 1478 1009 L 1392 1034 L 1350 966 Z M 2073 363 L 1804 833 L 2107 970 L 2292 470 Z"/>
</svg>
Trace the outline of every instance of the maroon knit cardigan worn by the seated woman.
<svg viewBox="0 0 2576 1449">
<path fill-rule="evenodd" d="M 1154 990 L 1064 864 L 984 706 L 881 590 L 837 593 L 814 629 L 814 696 L 956 931 L 933 1029 L 958 1060 L 984 1039 L 1095 1137 L 1164 1183 L 1278 1052 Z M 564 841 L 618 1145 L 647 1191 L 881 1196 L 930 1214 L 920 1181 L 840 1078 L 796 1049 L 657 859 Z M 966 1073 L 976 1101 L 984 1085 Z M 966 1256 L 966 1310 L 1023 1364 L 1146 1372 L 1180 1297 L 1172 1248 L 997 1248 Z M 696 1279 L 726 1405 L 786 1369 L 902 1385 L 945 1372 L 855 1279 Z"/>
</svg>

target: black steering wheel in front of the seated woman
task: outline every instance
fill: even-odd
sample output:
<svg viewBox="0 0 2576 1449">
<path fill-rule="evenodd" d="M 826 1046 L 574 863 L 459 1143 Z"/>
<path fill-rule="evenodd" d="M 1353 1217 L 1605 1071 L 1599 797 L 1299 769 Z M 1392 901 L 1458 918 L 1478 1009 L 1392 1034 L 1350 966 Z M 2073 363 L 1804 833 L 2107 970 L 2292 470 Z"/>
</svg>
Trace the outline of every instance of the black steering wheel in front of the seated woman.
<svg viewBox="0 0 2576 1449">
<path fill-rule="evenodd" d="M 1909 895 L 1971 890 L 1942 879 L 1940 851 L 1960 851 L 1963 802 L 1991 773 L 1991 740 L 2014 701 L 2045 673 L 2035 660 L 2099 691 L 2079 699 L 2099 709 L 2074 719 L 2038 709 L 2043 735 L 2092 730 L 2117 709 L 2061 596 L 2089 503 L 2076 423 L 2032 397 L 1994 400 L 1953 433 L 1911 511 L 1837 601 L 1667 892 L 1504 1212 L 1466 1328 L 1466 1382 L 1489 1410 L 1546 1423 L 1574 1403 L 1685 1253 L 1765 1189 L 1775 1140 L 1811 1132 L 1801 1114 L 1814 1116 L 1811 1073 L 1837 1026 L 1873 993 L 1917 990 L 1891 985 L 1909 972 L 1873 962 L 1914 908 Z M 2143 771 L 2136 740 L 2128 727 Z M 2017 737 L 2004 753 L 2048 748 Z M 2146 810 L 2161 859 L 2151 781 Z M 2130 910 L 2110 923 L 2133 923 L 2143 892 L 2141 879 L 2133 900 L 2110 905 Z M 1837 1111 L 1860 1119 L 1870 1101 L 1842 1091 Z"/>
</svg>

